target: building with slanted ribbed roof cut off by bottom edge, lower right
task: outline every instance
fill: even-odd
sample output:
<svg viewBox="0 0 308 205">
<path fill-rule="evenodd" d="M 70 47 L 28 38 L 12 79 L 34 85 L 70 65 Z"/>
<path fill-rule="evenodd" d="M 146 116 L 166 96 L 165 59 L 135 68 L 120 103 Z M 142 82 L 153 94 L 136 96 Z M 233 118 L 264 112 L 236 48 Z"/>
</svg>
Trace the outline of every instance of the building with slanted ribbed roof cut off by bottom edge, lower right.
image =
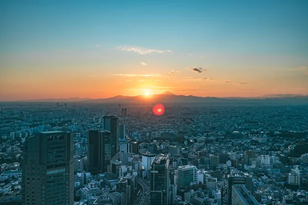
<svg viewBox="0 0 308 205">
<path fill-rule="evenodd" d="M 232 186 L 232 205 L 259 205 L 244 185 Z"/>
</svg>

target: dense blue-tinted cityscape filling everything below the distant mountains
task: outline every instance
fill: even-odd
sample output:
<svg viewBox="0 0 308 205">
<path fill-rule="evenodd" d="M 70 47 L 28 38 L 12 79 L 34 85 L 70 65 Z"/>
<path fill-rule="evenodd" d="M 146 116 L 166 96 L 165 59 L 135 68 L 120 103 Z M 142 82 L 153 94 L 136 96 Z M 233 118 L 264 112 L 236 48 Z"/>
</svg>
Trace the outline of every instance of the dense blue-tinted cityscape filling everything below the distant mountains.
<svg viewBox="0 0 308 205">
<path fill-rule="evenodd" d="M 0 204 L 308 203 L 306 106 L 152 108 L 3 103 Z"/>
</svg>

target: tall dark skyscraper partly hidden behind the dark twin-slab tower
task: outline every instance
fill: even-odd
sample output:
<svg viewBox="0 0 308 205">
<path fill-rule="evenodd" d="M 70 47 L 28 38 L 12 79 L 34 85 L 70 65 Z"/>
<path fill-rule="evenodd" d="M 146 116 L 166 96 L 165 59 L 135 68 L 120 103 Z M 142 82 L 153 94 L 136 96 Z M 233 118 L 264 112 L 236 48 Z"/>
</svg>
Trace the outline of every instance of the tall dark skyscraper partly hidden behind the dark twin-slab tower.
<svg viewBox="0 0 308 205">
<path fill-rule="evenodd" d="M 119 118 L 113 115 L 105 115 L 103 117 L 104 129 L 111 132 L 111 156 L 120 152 L 119 138 L 120 138 L 120 128 L 119 128 Z"/>
</svg>

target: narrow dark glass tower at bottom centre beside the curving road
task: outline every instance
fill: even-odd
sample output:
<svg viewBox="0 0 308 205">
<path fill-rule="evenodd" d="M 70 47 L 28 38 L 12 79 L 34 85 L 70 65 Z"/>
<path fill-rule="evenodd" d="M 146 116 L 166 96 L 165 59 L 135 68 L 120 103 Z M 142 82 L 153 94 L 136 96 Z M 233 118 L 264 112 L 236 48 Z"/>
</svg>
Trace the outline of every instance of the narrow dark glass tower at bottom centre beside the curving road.
<svg viewBox="0 0 308 205">
<path fill-rule="evenodd" d="M 151 204 L 169 204 L 169 158 L 160 154 L 152 161 L 150 169 Z"/>
</svg>

